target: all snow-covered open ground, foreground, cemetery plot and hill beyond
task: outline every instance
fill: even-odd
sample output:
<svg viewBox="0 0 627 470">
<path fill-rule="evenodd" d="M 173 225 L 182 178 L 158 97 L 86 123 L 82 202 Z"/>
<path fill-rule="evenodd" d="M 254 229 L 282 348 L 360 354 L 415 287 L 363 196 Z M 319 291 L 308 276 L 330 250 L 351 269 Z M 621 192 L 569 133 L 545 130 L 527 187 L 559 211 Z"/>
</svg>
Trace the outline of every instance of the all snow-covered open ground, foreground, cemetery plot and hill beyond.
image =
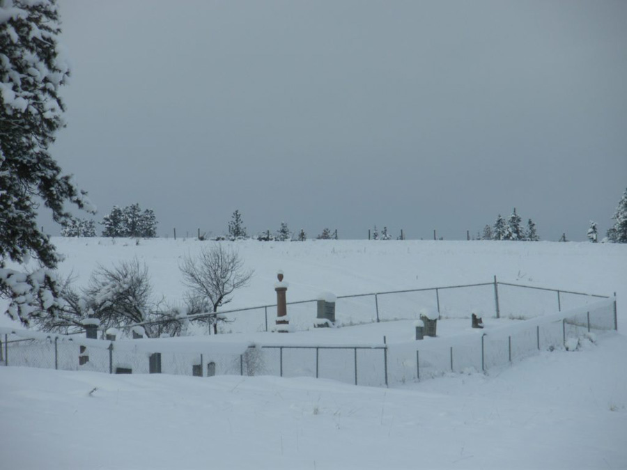
<svg viewBox="0 0 627 470">
<path fill-rule="evenodd" d="M 84 284 L 98 264 L 137 256 L 156 295 L 183 297 L 178 264 L 195 240 L 54 240 L 60 269 Z M 236 243 L 249 287 L 229 308 L 274 304 L 282 269 L 288 301 L 500 281 L 612 295 L 619 332 L 481 373 L 391 389 L 303 377 L 107 375 L 0 368 L 0 467 L 626 468 L 627 246 L 550 242 Z M 490 313 L 484 316 L 488 320 Z M 240 321 L 240 320 L 238 320 Z M 511 320 L 502 320 L 508 322 Z M 449 320 L 442 334 L 466 334 Z M 10 324 L 3 318 L 0 325 Z M 488 328 L 494 323 L 488 323 Z M 444 322 L 442 322 L 442 326 Z M 410 339 L 411 322 L 325 332 L 333 342 Z M 440 325 L 438 325 L 440 333 Z M 317 340 L 307 331 L 307 340 Z M 277 338 L 278 334 L 260 334 Z M 290 336 L 288 334 L 286 336 Z M 224 340 L 222 335 L 215 339 Z M 296 338 L 295 336 L 291 338 Z M 273 340 L 273 339 L 268 339 Z M 93 391 L 95 389 L 95 391 Z M 90 391 L 93 393 L 90 394 Z"/>
</svg>

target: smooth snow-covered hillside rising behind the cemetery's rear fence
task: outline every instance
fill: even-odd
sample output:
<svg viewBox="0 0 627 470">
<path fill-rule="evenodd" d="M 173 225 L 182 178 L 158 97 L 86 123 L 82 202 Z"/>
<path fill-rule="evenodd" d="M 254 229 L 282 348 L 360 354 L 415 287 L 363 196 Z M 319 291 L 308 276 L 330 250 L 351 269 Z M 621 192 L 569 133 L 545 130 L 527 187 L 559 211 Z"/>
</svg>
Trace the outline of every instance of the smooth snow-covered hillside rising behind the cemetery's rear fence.
<svg viewBox="0 0 627 470">
<path fill-rule="evenodd" d="M 98 264 L 110 267 L 137 256 L 146 263 L 155 295 L 183 299 L 179 271 L 187 254 L 212 242 L 194 239 L 53 239 L 65 261 L 63 274 L 84 285 Z M 288 301 L 335 295 L 429 288 L 493 281 L 577 290 L 627 299 L 627 246 L 555 242 L 444 242 L 307 240 L 307 242 L 221 242 L 232 245 L 255 273 L 235 292 L 228 308 L 274 304 L 277 270 L 289 283 Z M 34 262 L 31 262 L 34 263 Z M 626 313 L 627 315 L 627 313 Z"/>
</svg>

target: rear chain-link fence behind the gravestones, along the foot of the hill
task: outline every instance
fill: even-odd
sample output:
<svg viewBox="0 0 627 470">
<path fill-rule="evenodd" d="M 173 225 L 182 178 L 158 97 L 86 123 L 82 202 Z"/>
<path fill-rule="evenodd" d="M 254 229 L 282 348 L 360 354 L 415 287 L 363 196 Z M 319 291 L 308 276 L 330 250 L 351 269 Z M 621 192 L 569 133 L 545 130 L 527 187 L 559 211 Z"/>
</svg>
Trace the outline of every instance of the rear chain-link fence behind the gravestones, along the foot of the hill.
<svg viewBox="0 0 627 470">
<path fill-rule="evenodd" d="M 502 286 L 502 289 L 499 289 Z M 506 292 L 503 292 L 503 287 Z M 483 288 L 479 290 L 478 288 Z M 511 292 L 513 290 L 539 290 L 543 292 L 554 292 L 555 298 L 551 301 L 548 298 L 539 299 L 536 297 L 535 301 L 529 301 L 524 299 L 524 295 L 520 292 Z M 442 299 L 442 292 L 450 292 L 452 290 L 465 290 L 464 294 L 458 299 Z M 480 298 L 475 299 L 474 302 L 469 302 L 468 297 L 472 297 L 468 294 L 467 289 L 473 289 L 476 292 L 475 297 L 479 295 Z M 422 294 L 422 296 L 417 296 Z M 432 297 L 424 297 L 424 294 L 430 294 Z M 412 296 L 414 295 L 414 296 Z M 340 324 L 360 324 L 369 322 L 380 322 L 385 320 L 403 320 L 418 318 L 419 309 L 421 307 L 431 307 L 438 311 L 438 315 L 456 317 L 456 318 L 470 318 L 470 310 L 472 308 L 479 308 L 480 311 L 487 313 L 493 311 L 495 318 L 501 318 L 503 312 L 502 307 L 505 306 L 505 315 L 515 318 L 525 318 L 526 312 L 529 309 L 536 309 L 535 315 L 541 315 L 543 313 L 555 311 L 562 311 L 564 296 L 575 296 L 580 301 L 568 301 L 569 305 L 566 308 L 573 306 L 580 306 L 582 304 L 589 303 L 592 299 L 607 299 L 607 295 L 589 294 L 585 292 L 575 292 L 572 290 L 564 289 L 552 289 L 536 287 L 532 285 L 523 285 L 517 283 L 506 283 L 497 281 L 497 276 L 494 276 L 494 280 L 488 283 L 472 283 L 463 285 L 444 285 L 433 288 L 417 288 L 417 289 L 404 289 L 404 290 L 389 290 L 382 292 L 368 292 L 364 294 L 353 295 L 339 295 L 336 297 L 336 316 Z M 385 306 L 380 305 L 380 297 L 384 297 L 384 301 L 387 302 Z M 392 297 L 392 299 L 385 299 Z M 351 303 L 353 299 L 361 299 L 361 303 Z M 364 303 L 363 300 L 370 299 L 370 304 Z M 522 299 L 522 301 L 521 301 Z M 288 313 L 291 318 L 291 323 L 295 329 L 310 329 L 314 324 L 316 318 L 316 304 L 317 299 L 308 299 L 300 301 L 288 301 Z M 384 302 L 384 303 L 385 303 Z M 309 305 L 311 304 L 311 305 Z M 447 306 L 443 304 L 449 304 Z M 539 308 L 541 304 L 541 308 Z M 292 307 L 292 308 L 290 308 Z M 241 313 L 250 313 L 257 311 L 258 315 L 263 313 L 263 322 L 258 323 L 258 327 L 254 331 L 270 331 L 274 324 L 275 318 L 272 317 L 272 309 L 276 309 L 277 304 L 266 304 L 259 306 L 251 306 L 245 308 L 234 308 L 231 310 L 224 310 L 211 313 L 199 313 L 196 315 L 187 315 L 185 320 L 199 320 L 202 318 L 212 318 L 217 315 L 222 315 L 229 320 L 238 320 L 243 318 Z M 294 311 L 292 313 L 291 311 Z M 369 313 L 370 312 L 370 313 Z M 268 314 L 270 313 L 270 317 Z M 293 321 L 293 320 L 295 321 Z M 249 323 L 249 318 L 246 319 Z M 159 324 L 162 321 L 155 320 L 149 322 L 141 322 L 136 324 L 130 324 L 126 326 L 118 327 L 120 329 L 131 329 L 135 326 L 144 326 L 149 324 Z M 237 326 L 234 327 L 235 331 L 238 330 Z"/>
</svg>

